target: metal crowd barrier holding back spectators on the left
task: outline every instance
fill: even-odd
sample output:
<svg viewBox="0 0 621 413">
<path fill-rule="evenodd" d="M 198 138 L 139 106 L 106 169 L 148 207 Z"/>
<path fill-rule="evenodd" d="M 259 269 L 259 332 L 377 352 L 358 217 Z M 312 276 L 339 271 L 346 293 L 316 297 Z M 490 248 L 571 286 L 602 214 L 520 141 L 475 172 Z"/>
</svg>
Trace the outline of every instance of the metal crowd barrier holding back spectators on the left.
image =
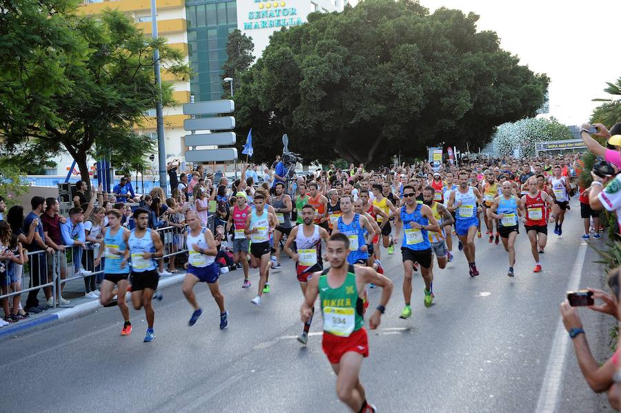
<svg viewBox="0 0 621 413">
<path fill-rule="evenodd" d="M 215 232 L 217 223 L 216 216 L 210 215 L 207 228 Z M 164 259 L 175 260 L 177 256 L 184 256 L 188 253 L 186 248 L 188 228 L 187 225 L 183 228 L 168 226 L 156 231 L 164 244 L 164 256 L 155 259 L 161 270 L 164 267 Z M 45 250 L 31 251 L 26 254 L 26 262 L 21 265 L 12 262 L 10 259 L 0 260 L 0 272 L 4 270 L 6 274 L 6 281 L 1 283 L 0 303 L 7 309 L 15 296 L 28 294 L 26 305 L 23 305 L 24 308 L 35 306 L 41 301 L 37 297 L 43 288 L 45 296 L 52 298 L 52 308 L 68 307 L 68 305 L 63 305 L 59 300 L 60 294 L 57 294 L 58 291 L 63 290 L 66 283 L 76 279 L 84 279 L 86 292 L 86 283 L 95 286 L 96 281 L 103 279 L 103 255 L 101 262 L 95 267 L 99 248 L 103 247 L 88 242 L 86 248 L 66 246 L 63 251 L 52 253 Z M 177 261 L 178 264 L 181 262 Z M 3 280 L 0 279 L 0 281 Z M 28 288 L 24 288 L 26 285 Z M 90 288 L 90 290 L 94 290 L 94 288 Z"/>
</svg>

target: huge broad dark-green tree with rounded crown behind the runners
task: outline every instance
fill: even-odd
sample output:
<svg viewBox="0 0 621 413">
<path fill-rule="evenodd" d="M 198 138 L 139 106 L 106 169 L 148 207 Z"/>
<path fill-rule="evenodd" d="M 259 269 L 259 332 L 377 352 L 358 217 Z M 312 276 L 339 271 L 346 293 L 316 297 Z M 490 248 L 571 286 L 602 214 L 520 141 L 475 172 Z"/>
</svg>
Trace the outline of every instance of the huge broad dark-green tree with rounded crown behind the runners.
<svg viewBox="0 0 621 413">
<path fill-rule="evenodd" d="M 385 163 L 445 142 L 483 146 L 495 126 L 534 116 L 549 83 L 477 32 L 477 15 L 414 0 L 364 0 L 275 32 L 235 96 L 255 157 Z"/>
</svg>

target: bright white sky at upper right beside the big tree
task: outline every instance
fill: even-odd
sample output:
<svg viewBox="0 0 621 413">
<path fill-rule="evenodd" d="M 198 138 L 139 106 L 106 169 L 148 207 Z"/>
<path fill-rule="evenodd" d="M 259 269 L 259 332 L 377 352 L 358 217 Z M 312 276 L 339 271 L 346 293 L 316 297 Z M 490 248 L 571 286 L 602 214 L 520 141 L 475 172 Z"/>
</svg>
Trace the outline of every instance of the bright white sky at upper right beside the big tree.
<svg viewBox="0 0 621 413">
<path fill-rule="evenodd" d="M 445 6 L 480 16 L 477 30 L 493 30 L 500 47 L 550 78 L 550 114 L 567 125 L 587 121 L 609 99 L 605 82 L 621 77 L 620 0 L 421 0 L 433 13 Z"/>
</svg>

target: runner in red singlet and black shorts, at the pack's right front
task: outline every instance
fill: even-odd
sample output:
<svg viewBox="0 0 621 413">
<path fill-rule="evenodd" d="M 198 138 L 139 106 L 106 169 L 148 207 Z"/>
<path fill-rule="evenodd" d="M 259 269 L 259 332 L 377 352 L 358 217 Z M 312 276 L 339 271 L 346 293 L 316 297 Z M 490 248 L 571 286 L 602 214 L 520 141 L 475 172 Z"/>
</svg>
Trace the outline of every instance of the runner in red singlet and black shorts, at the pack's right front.
<svg viewBox="0 0 621 413">
<path fill-rule="evenodd" d="M 539 189 L 538 179 L 530 177 L 526 181 L 529 185 L 529 193 L 522 197 L 522 205 L 526 210 L 524 217 L 524 229 L 531 241 L 531 252 L 535 259 L 533 272 L 541 272 L 539 254 L 544 252 L 548 240 L 548 218 L 546 205 L 553 203 L 552 197 Z"/>
</svg>

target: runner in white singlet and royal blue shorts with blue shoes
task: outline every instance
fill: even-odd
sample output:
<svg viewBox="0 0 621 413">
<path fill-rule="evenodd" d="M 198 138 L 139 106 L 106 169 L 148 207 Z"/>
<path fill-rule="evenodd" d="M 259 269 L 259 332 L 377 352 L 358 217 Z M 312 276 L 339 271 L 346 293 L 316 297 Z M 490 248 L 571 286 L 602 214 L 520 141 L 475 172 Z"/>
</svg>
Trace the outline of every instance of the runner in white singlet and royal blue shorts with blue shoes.
<svg viewBox="0 0 621 413">
<path fill-rule="evenodd" d="M 190 227 L 186 248 L 188 249 L 188 262 L 185 267 L 188 272 L 184 279 L 183 292 L 188 303 L 194 308 L 194 312 L 188 321 L 188 325 L 195 325 L 203 310 L 199 307 L 194 294 L 194 286 L 204 282 L 209 286 L 211 296 L 215 299 L 220 309 L 220 330 L 228 327 L 228 312 L 224 309 L 224 296 L 220 292 L 218 277 L 220 276 L 215 257 L 218 249 L 213 239 L 213 233 L 201 225 L 199 214 L 196 211 L 186 212 L 186 223 Z"/>
</svg>

